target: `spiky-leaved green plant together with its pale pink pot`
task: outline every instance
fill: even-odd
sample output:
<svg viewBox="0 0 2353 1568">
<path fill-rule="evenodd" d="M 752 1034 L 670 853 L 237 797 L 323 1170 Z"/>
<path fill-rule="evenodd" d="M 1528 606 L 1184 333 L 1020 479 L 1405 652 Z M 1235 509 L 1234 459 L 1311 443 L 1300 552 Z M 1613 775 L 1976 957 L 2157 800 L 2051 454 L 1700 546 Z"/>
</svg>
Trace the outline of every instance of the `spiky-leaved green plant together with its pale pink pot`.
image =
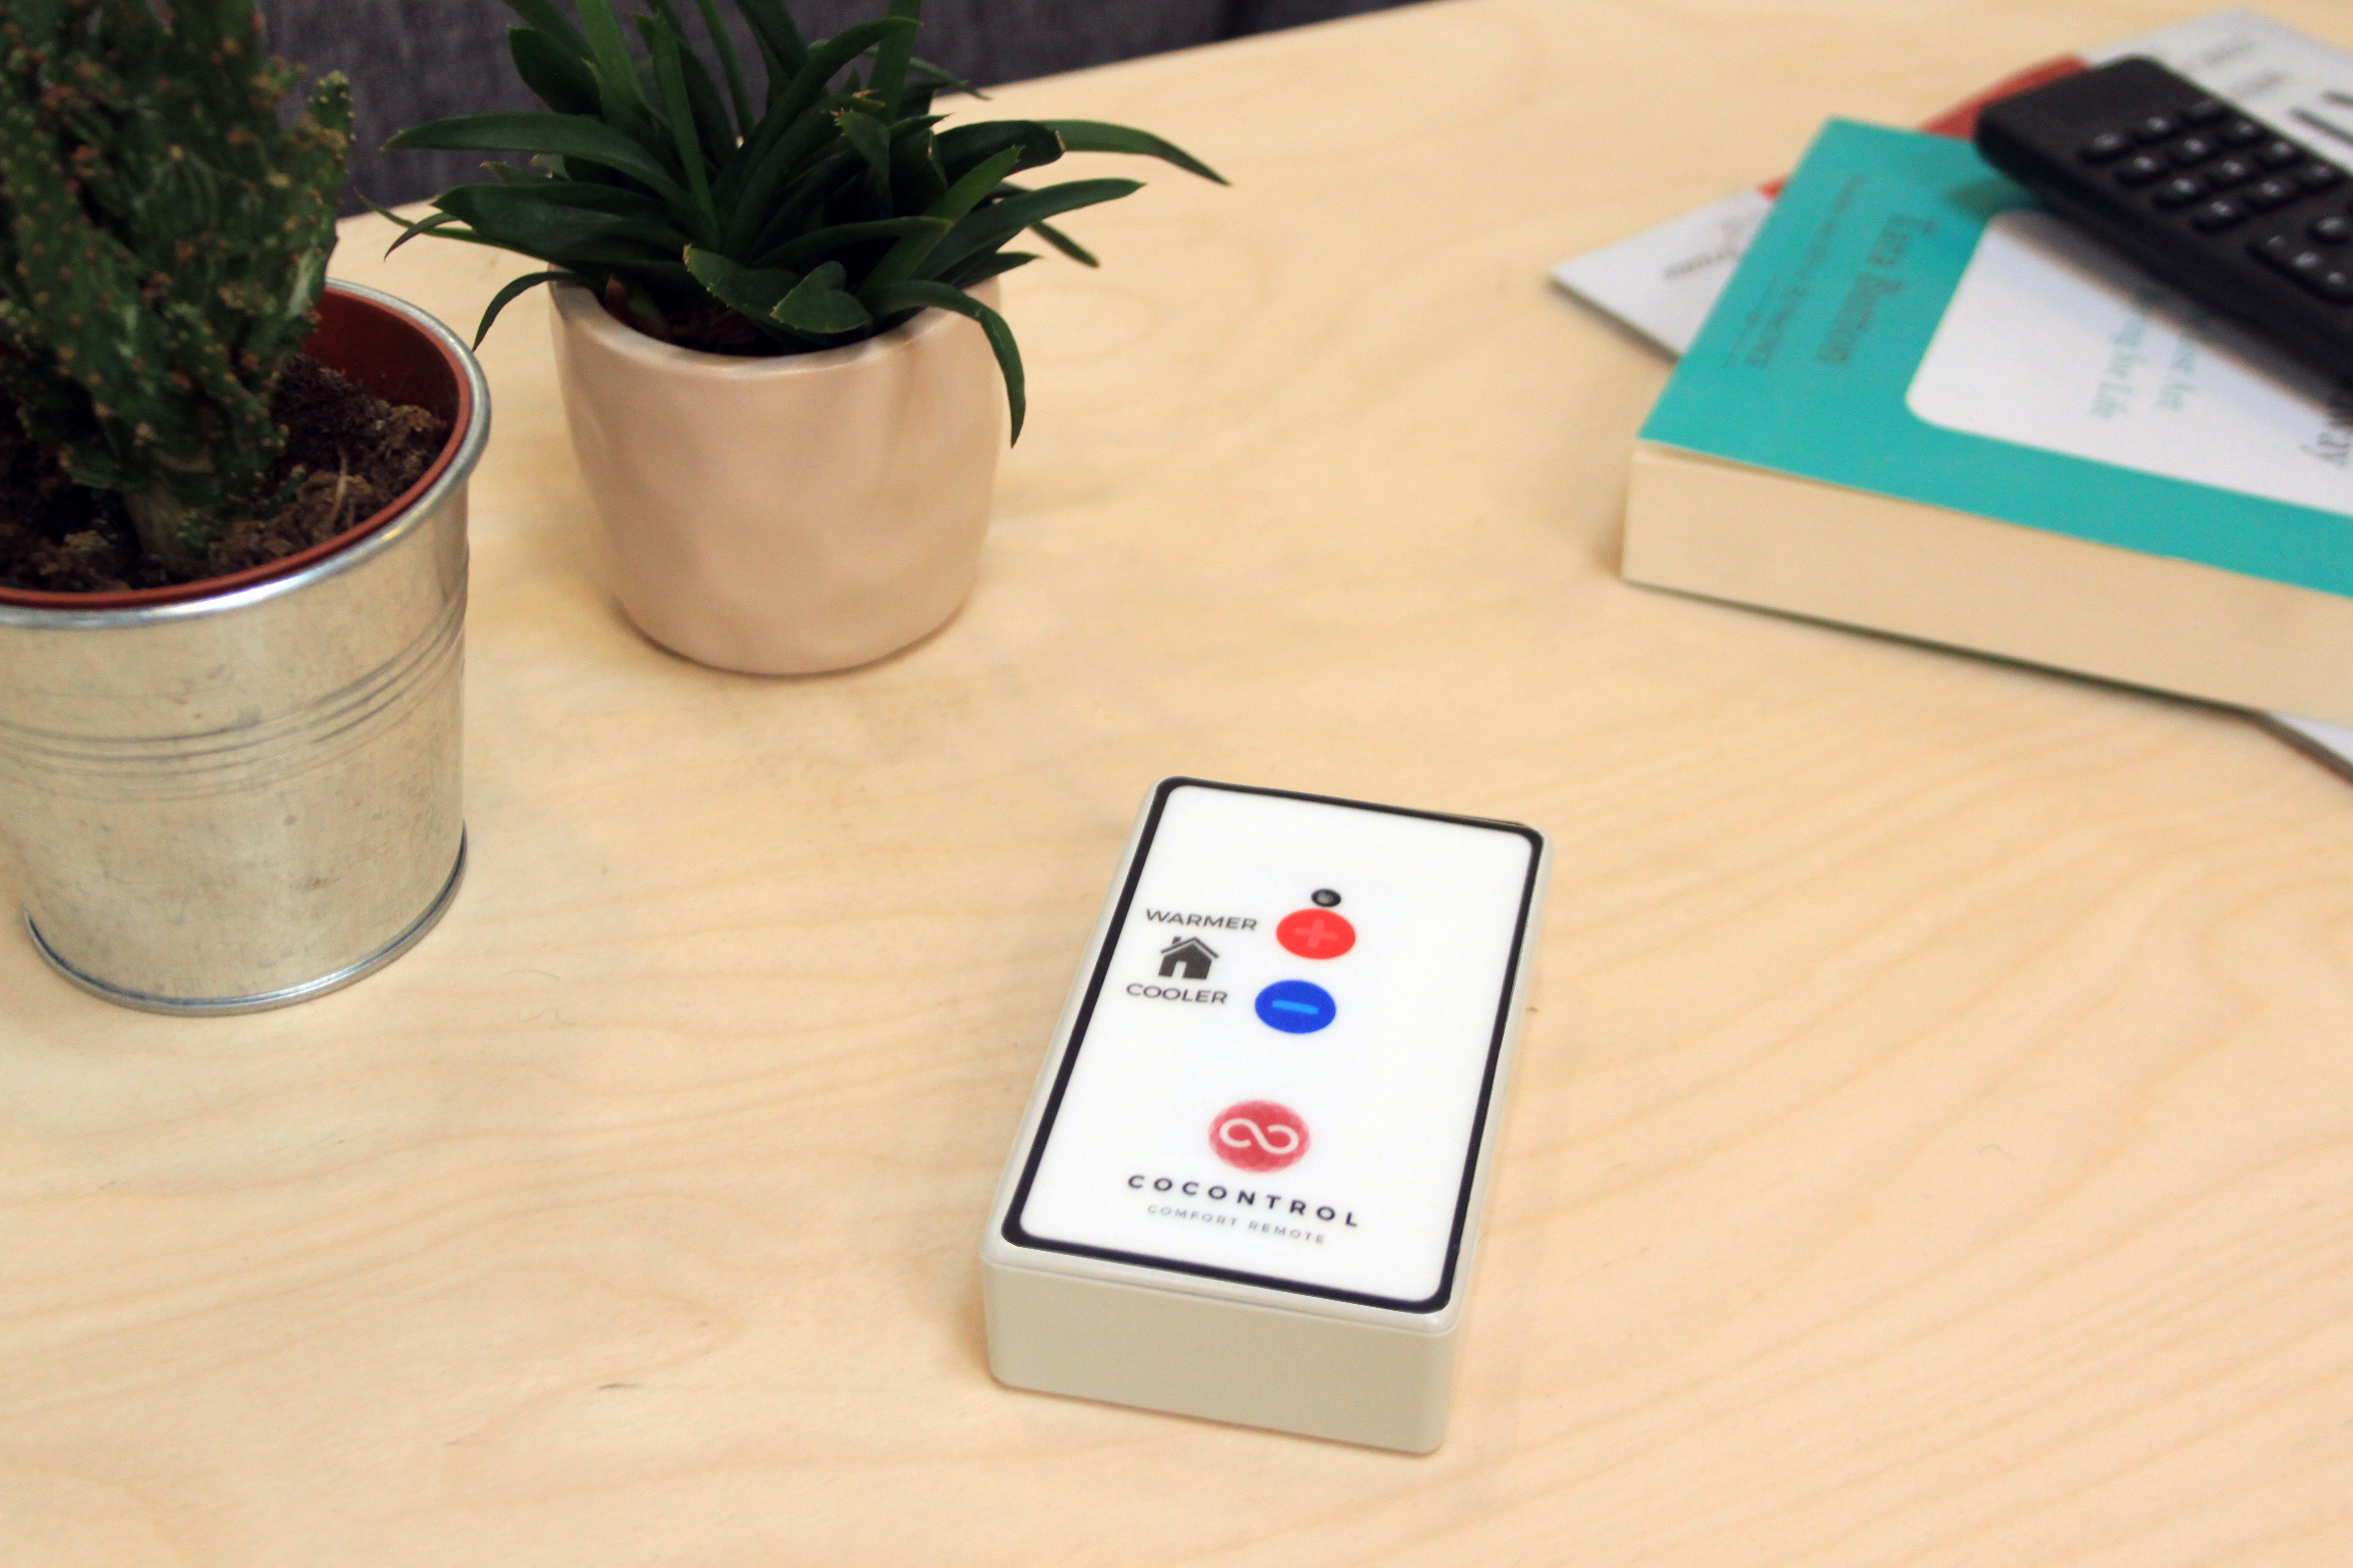
<svg viewBox="0 0 2353 1568">
<path fill-rule="evenodd" d="M 482 331 L 555 284 L 565 409 L 621 607 L 689 658 L 769 675 L 941 625 L 972 588 L 1000 437 L 1021 433 L 991 280 L 1035 254 L 1005 247 L 1035 233 L 1094 266 L 1052 219 L 1136 190 L 1014 176 L 1066 150 L 1219 176 L 1092 120 L 941 127 L 932 99 L 955 82 L 913 56 L 922 0 L 816 42 L 781 0 L 732 0 L 767 73 L 758 101 L 718 0 L 696 0 L 713 61 L 671 0 L 628 19 L 638 49 L 612 0 L 576 0 L 576 19 L 506 2 L 546 113 L 435 120 L 391 146 L 527 162 L 492 162 L 402 221 L 402 242 L 546 263 Z"/>
</svg>

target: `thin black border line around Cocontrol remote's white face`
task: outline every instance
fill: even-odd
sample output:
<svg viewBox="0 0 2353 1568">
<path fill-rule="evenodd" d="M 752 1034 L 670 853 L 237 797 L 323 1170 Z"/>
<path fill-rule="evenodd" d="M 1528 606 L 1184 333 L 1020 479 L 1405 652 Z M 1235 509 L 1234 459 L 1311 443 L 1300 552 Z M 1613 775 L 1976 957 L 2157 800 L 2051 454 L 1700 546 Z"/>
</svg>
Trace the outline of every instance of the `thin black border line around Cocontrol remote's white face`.
<svg viewBox="0 0 2353 1568">
<path fill-rule="evenodd" d="M 1447 1232 L 1447 1262 L 1445 1272 L 1438 1276 L 1438 1291 L 1424 1300 L 1400 1300 L 1393 1295 L 1365 1295 L 1362 1291 L 1337 1291 L 1332 1286 L 1313 1286 L 1297 1279 L 1280 1279 L 1275 1274 L 1249 1274 L 1245 1269 L 1221 1269 L 1207 1262 L 1184 1262 L 1176 1258 L 1155 1258 L 1151 1253 L 1127 1253 L 1108 1246 L 1087 1246 L 1080 1241 L 1054 1241 L 1049 1237 L 1035 1237 L 1021 1225 L 1021 1213 L 1028 1206 L 1031 1182 L 1038 1178 L 1038 1164 L 1045 1159 L 1045 1145 L 1054 1135 L 1054 1117 L 1061 1112 L 1061 1095 L 1071 1086 L 1071 1067 L 1078 1063 L 1078 1051 L 1087 1041 L 1087 1025 L 1094 1020 L 1094 1004 L 1104 994 L 1104 983 L 1111 978 L 1111 957 L 1118 952 L 1118 933 L 1127 929 L 1127 910 L 1136 898 L 1136 882 L 1144 877 L 1144 863 L 1151 858 L 1153 837 L 1160 832 L 1160 813 L 1167 809 L 1169 797 L 1176 790 L 1231 790 L 1235 795 L 1273 795 L 1280 799 L 1304 799 L 1320 806 L 1348 806 L 1353 811 L 1384 811 L 1388 816 L 1417 816 L 1433 823 L 1457 823 L 1461 827 L 1489 827 L 1499 832 L 1515 832 L 1529 844 L 1527 856 L 1527 879 L 1520 884 L 1520 910 L 1511 926 L 1511 959 L 1504 966 L 1504 994 L 1497 999 L 1494 1032 L 1487 1037 L 1487 1065 L 1480 1072 L 1478 1086 L 1478 1110 L 1471 1117 L 1471 1147 L 1464 1154 L 1461 1187 L 1454 1194 L 1454 1227 Z M 1494 1103 L 1494 1074 L 1504 1058 L 1504 1034 L 1511 1027 L 1511 1004 L 1520 992 L 1520 964 L 1527 950 L 1527 917 L 1537 903 L 1537 877 L 1544 870 L 1544 835 L 1525 823 L 1504 823 L 1480 816 L 1454 816 L 1447 811 L 1412 811 L 1407 806 L 1381 806 L 1365 799 L 1341 799 L 1337 795 L 1306 795 L 1299 790 L 1266 790 L 1259 785 L 1228 785 L 1214 778 L 1162 778 L 1153 790 L 1153 806 L 1144 820 L 1144 835 L 1136 839 L 1134 858 L 1127 865 L 1127 882 L 1120 886 L 1120 903 L 1111 912 L 1111 926 L 1104 933 L 1104 950 L 1096 954 L 1094 976 L 1087 980 L 1087 997 L 1080 1001 L 1078 1018 L 1071 1023 L 1071 1044 L 1061 1053 L 1061 1065 L 1054 1072 L 1054 1088 L 1047 1093 L 1045 1114 L 1038 1119 L 1038 1135 L 1031 1138 L 1028 1161 L 1021 1166 L 1021 1182 L 1014 1187 L 1014 1201 L 1005 1206 L 1002 1237 L 1012 1246 L 1026 1246 L 1040 1253 L 1066 1253 L 1073 1258 L 1096 1258 L 1104 1262 L 1132 1262 L 1148 1269 L 1165 1269 L 1172 1274 L 1195 1274 L 1200 1279 L 1224 1279 L 1240 1286 L 1261 1286 L 1268 1291 L 1282 1291 L 1287 1295 L 1315 1295 L 1322 1300 L 1353 1302 L 1358 1307 L 1381 1307 L 1388 1312 L 1412 1312 L 1431 1314 L 1442 1312 L 1449 1300 L 1454 1300 L 1454 1276 L 1461 1265 L 1464 1229 L 1471 1222 L 1471 1187 L 1478 1180 L 1480 1150 L 1487 1145 L 1487 1117 Z"/>
</svg>

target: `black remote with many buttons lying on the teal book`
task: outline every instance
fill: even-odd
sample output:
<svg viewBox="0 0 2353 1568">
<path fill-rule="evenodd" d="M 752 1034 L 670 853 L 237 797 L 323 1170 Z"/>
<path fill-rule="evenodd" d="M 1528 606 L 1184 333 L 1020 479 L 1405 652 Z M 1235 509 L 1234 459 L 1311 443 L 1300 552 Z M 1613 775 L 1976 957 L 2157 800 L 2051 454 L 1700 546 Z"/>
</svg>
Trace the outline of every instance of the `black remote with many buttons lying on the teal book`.
<svg viewBox="0 0 2353 1568">
<path fill-rule="evenodd" d="M 2353 179 L 2151 59 L 1988 103 L 1977 150 L 2160 282 L 2353 374 Z"/>
</svg>

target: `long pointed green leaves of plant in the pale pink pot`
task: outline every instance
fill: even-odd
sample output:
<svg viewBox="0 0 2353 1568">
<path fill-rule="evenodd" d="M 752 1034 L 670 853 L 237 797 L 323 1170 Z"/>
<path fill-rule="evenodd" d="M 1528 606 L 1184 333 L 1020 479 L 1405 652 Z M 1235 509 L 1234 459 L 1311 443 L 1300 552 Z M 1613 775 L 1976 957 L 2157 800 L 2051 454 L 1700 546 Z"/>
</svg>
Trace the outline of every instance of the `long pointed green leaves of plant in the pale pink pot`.
<svg viewBox="0 0 2353 1568">
<path fill-rule="evenodd" d="M 612 0 L 506 0 L 515 71 L 548 113 L 461 115 L 407 129 L 393 148 L 527 155 L 489 181 L 440 195 L 419 235 L 520 252 L 548 270 L 492 301 L 480 341 L 518 294 L 576 282 L 640 329 L 720 353 L 807 353 L 875 336 L 922 308 L 976 320 L 998 355 L 1021 435 L 1021 353 L 972 284 L 1035 261 L 1007 252 L 1024 230 L 1094 266 L 1049 219 L 1139 188 L 1078 179 L 1042 190 L 1014 174 L 1066 150 L 1141 153 L 1224 183 L 1207 165 L 1139 129 L 1094 120 L 991 120 L 939 129 L 941 87 L 913 59 L 922 0 L 835 38 L 805 42 L 781 0 L 732 0 L 767 66 L 753 106 L 718 0 L 696 0 L 715 66 L 671 0 L 631 16 Z M 725 80 L 725 89 L 720 82 Z M 379 209 L 381 212 L 381 209 Z"/>
</svg>

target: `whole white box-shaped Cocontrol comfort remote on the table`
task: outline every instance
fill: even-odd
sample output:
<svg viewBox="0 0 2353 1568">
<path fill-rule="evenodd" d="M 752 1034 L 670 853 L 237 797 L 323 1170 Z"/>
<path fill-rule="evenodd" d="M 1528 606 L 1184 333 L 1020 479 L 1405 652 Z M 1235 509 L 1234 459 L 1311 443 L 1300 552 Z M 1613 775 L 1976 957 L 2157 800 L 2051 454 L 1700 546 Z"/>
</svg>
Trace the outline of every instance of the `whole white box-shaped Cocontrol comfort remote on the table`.
<svg viewBox="0 0 2353 1568">
<path fill-rule="evenodd" d="M 1544 835 L 1167 778 L 981 1262 L 1002 1382 L 1428 1453 Z"/>
</svg>

